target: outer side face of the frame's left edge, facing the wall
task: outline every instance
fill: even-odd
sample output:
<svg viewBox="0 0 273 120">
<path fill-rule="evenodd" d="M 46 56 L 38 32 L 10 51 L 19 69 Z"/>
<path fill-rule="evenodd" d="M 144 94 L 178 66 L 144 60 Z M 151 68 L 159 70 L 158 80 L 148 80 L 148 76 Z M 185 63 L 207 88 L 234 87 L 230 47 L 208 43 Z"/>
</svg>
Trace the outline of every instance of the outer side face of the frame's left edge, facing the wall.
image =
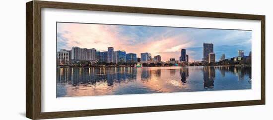
<svg viewBox="0 0 273 120">
<path fill-rule="evenodd" d="M 26 2 L 26 117 L 33 119 L 33 1 Z"/>
</svg>

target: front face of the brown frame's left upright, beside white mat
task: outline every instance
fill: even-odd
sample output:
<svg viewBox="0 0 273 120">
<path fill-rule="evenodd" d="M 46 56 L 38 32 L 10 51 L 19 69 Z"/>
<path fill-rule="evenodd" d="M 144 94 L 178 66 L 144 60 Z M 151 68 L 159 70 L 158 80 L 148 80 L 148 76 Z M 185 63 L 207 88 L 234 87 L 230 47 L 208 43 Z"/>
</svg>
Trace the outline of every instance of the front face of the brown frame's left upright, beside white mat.
<svg viewBox="0 0 273 120">
<path fill-rule="evenodd" d="M 41 20 L 41 3 L 33 0 L 33 120 L 41 119 L 42 114 L 42 20 Z"/>
</svg>

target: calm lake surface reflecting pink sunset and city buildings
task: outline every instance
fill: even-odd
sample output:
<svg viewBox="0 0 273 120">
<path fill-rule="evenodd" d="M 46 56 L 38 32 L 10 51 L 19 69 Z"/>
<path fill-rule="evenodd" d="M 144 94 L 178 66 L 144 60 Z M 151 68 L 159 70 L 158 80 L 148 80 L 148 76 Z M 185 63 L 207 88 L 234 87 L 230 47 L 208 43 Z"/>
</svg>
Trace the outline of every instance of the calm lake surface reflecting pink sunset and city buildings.
<svg viewBox="0 0 273 120">
<path fill-rule="evenodd" d="M 57 97 L 251 89 L 251 67 L 57 68 Z"/>
</svg>

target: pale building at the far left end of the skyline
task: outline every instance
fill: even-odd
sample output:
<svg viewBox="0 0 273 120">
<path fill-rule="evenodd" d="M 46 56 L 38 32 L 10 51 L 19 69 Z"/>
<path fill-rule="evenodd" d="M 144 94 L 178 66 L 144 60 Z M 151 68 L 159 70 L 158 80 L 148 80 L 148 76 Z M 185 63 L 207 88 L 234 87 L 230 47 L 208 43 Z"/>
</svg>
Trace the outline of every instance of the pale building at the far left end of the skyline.
<svg viewBox="0 0 273 120">
<path fill-rule="evenodd" d="M 68 64 L 69 63 L 69 51 L 65 49 L 61 49 L 57 52 L 57 62 L 58 64 Z"/>
</svg>

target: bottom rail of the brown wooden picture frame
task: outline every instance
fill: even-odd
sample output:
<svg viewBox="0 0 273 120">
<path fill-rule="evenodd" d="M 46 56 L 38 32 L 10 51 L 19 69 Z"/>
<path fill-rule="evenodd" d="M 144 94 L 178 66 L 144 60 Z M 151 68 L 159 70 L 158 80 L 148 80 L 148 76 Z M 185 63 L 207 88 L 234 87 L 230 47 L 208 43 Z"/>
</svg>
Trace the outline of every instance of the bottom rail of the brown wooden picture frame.
<svg viewBox="0 0 273 120">
<path fill-rule="evenodd" d="M 72 118 L 72 117 L 135 114 L 135 113 L 148 113 L 148 112 L 166 112 L 166 111 L 240 107 L 240 106 L 254 106 L 254 105 L 263 105 L 263 101 L 262 100 L 250 100 L 250 101 L 166 105 L 166 106 L 147 106 L 147 107 L 117 108 L 117 109 L 48 112 L 48 113 L 42 113 L 38 119 L 59 119 L 59 118 Z"/>
</svg>

